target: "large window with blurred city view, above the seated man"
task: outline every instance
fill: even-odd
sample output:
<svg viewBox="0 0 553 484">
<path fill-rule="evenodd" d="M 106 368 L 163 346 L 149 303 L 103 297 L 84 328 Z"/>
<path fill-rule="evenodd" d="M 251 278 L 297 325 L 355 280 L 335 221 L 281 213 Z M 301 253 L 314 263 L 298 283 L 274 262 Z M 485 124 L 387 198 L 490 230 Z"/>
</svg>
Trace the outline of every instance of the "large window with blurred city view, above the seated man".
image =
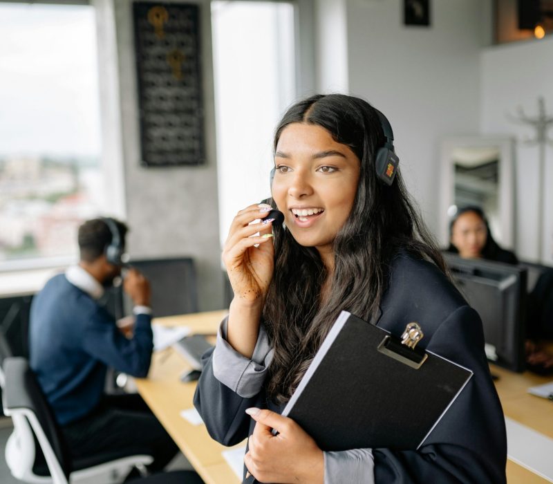
<svg viewBox="0 0 553 484">
<path fill-rule="evenodd" d="M 0 266 L 74 256 L 102 210 L 91 6 L 0 3 Z"/>
</svg>

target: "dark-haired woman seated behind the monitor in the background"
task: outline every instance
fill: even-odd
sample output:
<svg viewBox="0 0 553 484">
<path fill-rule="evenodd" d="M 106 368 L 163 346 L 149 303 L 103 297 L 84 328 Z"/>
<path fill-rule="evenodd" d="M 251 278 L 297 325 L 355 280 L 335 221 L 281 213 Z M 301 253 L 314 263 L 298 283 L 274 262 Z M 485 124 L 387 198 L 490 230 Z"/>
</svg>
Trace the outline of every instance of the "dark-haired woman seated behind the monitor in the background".
<svg viewBox="0 0 553 484">
<path fill-rule="evenodd" d="M 518 264 L 516 255 L 500 248 L 491 236 L 489 223 L 480 207 L 460 209 L 449 223 L 450 243 L 447 252 L 459 254 L 463 259 Z M 553 294 L 553 271 L 544 272 L 536 288 L 528 295 L 526 332 L 526 362 L 535 373 L 553 373 L 553 355 L 540 344 L 541 339 L 553 335 L 553 319 L 547 313 L 547 301 Z M 549 288 L 549 289 L 547 289 Z M 549 306 L 551 306 L 549 304 Z M 545 322 L 546 319 L 551 319 Z"/>
</svg>

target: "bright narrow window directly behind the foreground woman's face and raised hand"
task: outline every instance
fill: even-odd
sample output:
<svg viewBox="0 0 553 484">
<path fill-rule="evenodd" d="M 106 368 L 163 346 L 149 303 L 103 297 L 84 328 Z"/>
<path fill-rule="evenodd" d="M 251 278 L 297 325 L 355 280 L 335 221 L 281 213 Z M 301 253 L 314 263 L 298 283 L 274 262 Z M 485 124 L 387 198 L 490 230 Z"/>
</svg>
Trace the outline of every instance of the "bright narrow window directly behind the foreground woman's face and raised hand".
<svg viewBox="0 0 553 484">
<path fill-rule="evenodd" d="M 270 196 L 272 137 L 296 97 L 294 5 L 213 1 L 221 243 L 238 210 Z"/>
</svg>

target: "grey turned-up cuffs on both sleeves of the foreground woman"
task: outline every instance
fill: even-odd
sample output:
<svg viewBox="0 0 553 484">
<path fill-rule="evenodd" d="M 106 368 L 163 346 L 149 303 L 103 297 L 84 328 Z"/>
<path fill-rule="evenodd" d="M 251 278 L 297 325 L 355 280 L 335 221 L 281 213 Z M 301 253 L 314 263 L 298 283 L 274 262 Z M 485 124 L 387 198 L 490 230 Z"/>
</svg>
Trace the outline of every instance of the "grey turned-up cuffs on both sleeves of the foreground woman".
<svg viewBox="0 0 553 484">
<path fill-rule="evenodd" d="M 223 319 L 217 333 L 213 353 L 215 378 L 243 398 L 250 398 L 261 391 L 273 350 L 263 325 L 249 360 L 227 342 L 228 319 Z M 371 449 L 353 449 L 343 452 L 324 452 L 324 484 L 364 483 L 374 484 L 374 460 Z"/>
</svg>

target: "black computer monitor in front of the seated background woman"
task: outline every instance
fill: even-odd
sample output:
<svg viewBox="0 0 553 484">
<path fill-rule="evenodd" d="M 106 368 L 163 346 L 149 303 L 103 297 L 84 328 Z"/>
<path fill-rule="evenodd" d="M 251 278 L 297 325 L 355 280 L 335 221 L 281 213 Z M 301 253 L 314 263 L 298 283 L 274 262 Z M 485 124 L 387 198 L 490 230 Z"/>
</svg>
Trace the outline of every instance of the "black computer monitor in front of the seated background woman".
<svg viewBox="0 0 553 484">
<path fill-rule="evenodd" d="M 449 253 L 444 257 L 458 289 L 482 319 L 488 360 L 524 371 L 527 269 Z"/>
</svg>

